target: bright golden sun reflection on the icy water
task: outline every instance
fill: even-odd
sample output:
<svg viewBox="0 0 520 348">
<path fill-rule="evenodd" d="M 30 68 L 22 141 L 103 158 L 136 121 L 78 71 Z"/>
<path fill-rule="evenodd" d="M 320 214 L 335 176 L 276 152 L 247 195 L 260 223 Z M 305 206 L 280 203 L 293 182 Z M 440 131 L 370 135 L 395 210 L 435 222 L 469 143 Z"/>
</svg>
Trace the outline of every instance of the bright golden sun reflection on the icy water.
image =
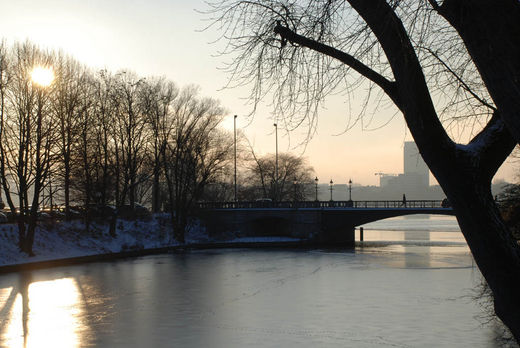
<svg viewBox="0 0 520 348">
<path fill-rule="evenodd" d="M 0 345 L 6 347 L 79 347 L 83 306 L 72 278 L 34 282 L 20 289 L 0 289 L 2 308 L 13 297 Z M 6 295 L 9 293 L 8 295 Z M 8 309 L 8 308 L 5 308 Z"/>
</svg>

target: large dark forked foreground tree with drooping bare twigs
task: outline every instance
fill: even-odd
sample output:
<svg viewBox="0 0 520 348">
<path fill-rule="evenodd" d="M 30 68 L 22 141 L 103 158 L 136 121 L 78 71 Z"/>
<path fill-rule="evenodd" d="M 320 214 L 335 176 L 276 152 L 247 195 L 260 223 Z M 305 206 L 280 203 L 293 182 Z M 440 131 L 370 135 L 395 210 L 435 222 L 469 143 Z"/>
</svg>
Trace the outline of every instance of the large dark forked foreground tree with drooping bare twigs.
<svg viewBox="0 0 520 348">
<path fill-rule="evenodd" d="M 317 106 L 339 88 L 351 91 L 368 81 L 369 95 L 375 88 L 386 95 L 452 203 L 493 291 L 497 315 L 520 340 L 520 249 L 490 190 L 493 175 L 520 140 L 520 3 L 279 0 L 212 6 L 213 25 L 229 39 L 234 81 L 254 81 L 255 103 L 272 92 L 289 128 L 304 121 L 314 125 Z M 470 74 L 460 74 L 464 66 Z M 464 93 L 442 98 L 454 90 Z M 475 105 L 484 117 L 468 118 L 479 116 Z M 483 122 L 468 143 L 458 144 L 447 133 L 440 119 L 446 106 L 457 111 L 452 116 Z"/>
</svg>

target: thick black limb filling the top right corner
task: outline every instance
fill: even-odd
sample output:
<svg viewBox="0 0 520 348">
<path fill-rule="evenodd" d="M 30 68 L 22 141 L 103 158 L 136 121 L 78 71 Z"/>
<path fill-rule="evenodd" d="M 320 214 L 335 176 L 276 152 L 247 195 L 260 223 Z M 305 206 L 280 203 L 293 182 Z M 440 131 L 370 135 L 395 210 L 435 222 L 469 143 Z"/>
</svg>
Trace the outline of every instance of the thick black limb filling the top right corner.
<svg viewBox="0 0 520 348">
<path fill-rule="evenodd" d="M 464 41 L 489 95 L 520 144 L 520 2 L 445 0 L 435 10 Z"/>
</svg>

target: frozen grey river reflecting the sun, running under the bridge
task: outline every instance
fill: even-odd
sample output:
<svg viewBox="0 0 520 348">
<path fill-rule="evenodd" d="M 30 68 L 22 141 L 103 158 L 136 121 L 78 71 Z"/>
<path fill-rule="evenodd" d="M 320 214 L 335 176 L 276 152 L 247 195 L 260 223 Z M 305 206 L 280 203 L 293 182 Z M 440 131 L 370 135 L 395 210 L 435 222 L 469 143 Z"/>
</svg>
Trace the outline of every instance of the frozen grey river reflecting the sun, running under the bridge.
<svg viewBox="0 0 520 348">
<path fill-rule="evenodd" d="M 452 217 L 355 250 L 224 249 L 0 276 L 1 347 L 495 347 Z"/>
</svg>

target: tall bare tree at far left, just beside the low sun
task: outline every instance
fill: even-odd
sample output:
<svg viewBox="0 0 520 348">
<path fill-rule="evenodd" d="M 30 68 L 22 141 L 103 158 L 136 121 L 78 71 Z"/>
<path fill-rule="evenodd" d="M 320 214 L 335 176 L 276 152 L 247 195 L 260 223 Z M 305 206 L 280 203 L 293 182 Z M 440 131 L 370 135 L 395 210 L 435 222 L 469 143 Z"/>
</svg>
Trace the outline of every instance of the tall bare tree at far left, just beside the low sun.
<svg viewBox="0 0 520 348">
<path fill-rule="evenodd" d="M 2 185 L 12 214 L 18 216 L 20 250 L 32 255 L 40 195 L 55 160 L 56 136 L 50 110 L 52 86 L 31 81 L 31 71 L 51 66 L 53 57 L 27 42 L 15 44 L 10 57 L 2 120 Z M 18 197 L 18 208 L 12 193 Z"/>
</svg>

